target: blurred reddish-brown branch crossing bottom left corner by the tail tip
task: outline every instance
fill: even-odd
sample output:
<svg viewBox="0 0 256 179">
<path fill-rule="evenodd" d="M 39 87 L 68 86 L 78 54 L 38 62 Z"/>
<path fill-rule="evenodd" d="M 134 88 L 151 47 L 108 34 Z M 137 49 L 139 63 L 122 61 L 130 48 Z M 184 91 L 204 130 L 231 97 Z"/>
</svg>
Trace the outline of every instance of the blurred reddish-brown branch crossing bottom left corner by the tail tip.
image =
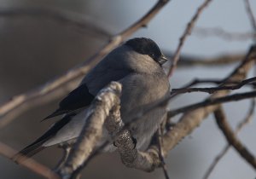
<svg viewBox="0 0 256 179">
<path fill-rule="evenodd" d="M 3 142 L 0 141 L 0 154 L 8 159 L 12 159 L 14 154 L 17 153 L 13 148 L 7 146 Z M 26 158 L 24 156 L 24 158 Z M 27 169 L 31 170 L 34 173 L 37 173 L 44 178 L 49 179 L 60 179 L 52 170 L 50 170 L 47 166 L 39 164 L 34 159 L 27 159 L 26 162 L 20 163 L 20 165 L 25 166 Z"/>
</svg>

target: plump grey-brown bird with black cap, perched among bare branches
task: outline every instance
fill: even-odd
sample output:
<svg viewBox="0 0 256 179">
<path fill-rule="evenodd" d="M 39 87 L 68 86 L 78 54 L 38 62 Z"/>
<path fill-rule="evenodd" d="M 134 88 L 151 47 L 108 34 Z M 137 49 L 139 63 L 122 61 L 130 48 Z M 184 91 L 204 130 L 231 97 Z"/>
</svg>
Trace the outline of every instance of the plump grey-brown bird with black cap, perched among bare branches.
<svg viewBox="0 0 256 179">
<path fill-rule="evenodd" d="M 113 49 L 82 79 L 54 113 L 44 118 L 61 116 L 43 136 L 16 153 L 16 163 L 55 144 L 75 141 L 86 123 L 85 116 L 97 93 L 112 81 L 122 85 L 120 115 L 123 122 L 130 123 L 143 108 L 170 95 L 171 86 L 163 64 L 168 61 L 157 43 L 150 38 L 131 38 Z M 157 108 L 139 118 L 133 124 L 131 136 L 137 149 L 143 150 L 160 123 L 166 118 L 166 109 Z M 108 131 L 103 130 L 102 140 L 109 140 Z M 114 151 L 109 143 L 104 151 Z"/>
</svg>

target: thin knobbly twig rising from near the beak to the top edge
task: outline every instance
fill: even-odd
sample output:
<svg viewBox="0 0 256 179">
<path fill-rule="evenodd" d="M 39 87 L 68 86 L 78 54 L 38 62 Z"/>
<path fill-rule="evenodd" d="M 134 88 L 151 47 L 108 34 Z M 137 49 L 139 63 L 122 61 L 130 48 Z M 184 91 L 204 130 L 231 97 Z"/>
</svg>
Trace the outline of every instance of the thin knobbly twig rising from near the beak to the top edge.
<svg viewBox="0 0 256 179">
<path fill-rule="evenodd" d="M 192 19 L 189 21 L 185 31 L 183 32 L 183 36 L 180 38 L 179 43 L 177 45 L 177 49 L 176 49 L 176 51 L 174 53 L 174 57 L 172 59 L 172 65 L 168 72 L 168 77 L 172 76 L 172 73 L 177 66 L 177 61 L 179 60 L 179 56 L 181 53 L 181 49 L 183 47 L 183 43 L 185 42 L 186 38 L 191 34 L 193 27 L 195 26 L 196 20 L 202 13 L 203 9 L 205 9 L 207 7 L 207 5 L 211 2 L 212 2 L 212 0 L 205 0 L 204 3 L 202 3 L 201 6 L 197 9 L 197 11 L 196 11 L 195 15 L 192 17 Z"/>
</svg>

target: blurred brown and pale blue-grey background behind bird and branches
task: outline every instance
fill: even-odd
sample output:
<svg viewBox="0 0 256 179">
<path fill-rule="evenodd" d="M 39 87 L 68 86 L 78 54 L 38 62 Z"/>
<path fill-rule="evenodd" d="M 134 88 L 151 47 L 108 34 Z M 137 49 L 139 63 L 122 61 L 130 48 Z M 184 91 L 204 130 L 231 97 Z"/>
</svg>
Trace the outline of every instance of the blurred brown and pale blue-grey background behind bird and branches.
<svg viewBox="0 0 256 179">
<path fill-rule="evenodd" d="M 156 41 L 161 49 L 172 53 L 177 48 L 184 28 L 195 14 L 202 0 L 171 1 L 147 28 L 132 37 L 147 37 Z M 256 15 L 256 2 L 251 0 Z M 0 0 L 0 103 L 14 95 L 26 92 L 55 78 L 95 54 L 109 35 L 117 34 L 138 20 L 156 1 L 117 0 Z M 14 9 L 51 9 L 76 20 L 88 21 L 93 26 L 74 26 L 61 20 L 43 16 L 8 15 Z M 244 3 L 241 0 L 214 0 L 201 14 L 197 28 L 221 28 L 226 32 L 252 33 Z M 96 31 L 102 29 L 102 31 Z M 252 38 L 224 39 L 215 35 L 193 33 L 185 42 L 182 53 L 199 57 L 224 54 L 246 54 Z M 131 38 L 132 38 L 131 37 Z M 179 88 L 194 78 L 224 78 L 236 66 L 178 68 L 170 79 L 172 88 Z M 250 72 L 250 76 L 253 72 Z M 247 89 L 245 89 L 247 90 Z M 67 91 L 68 92 L 68 91 Z M 170 108 L 201 101 L 206 94 L 182 95 L 172 101 Z M 0 131 L 0 141 L 17 150 L 40 136 L 55 122 L 40 120 L 55 110 L 60 99 L 22 114 Z M 224 105 L 230 124 L 236 124 L 246 115 L 249 101 Z M 256 155 L 256 122 L 253 120 L 239 134 L 239 138 Z M 171 178 L 202 178 L 207 167 L 224 147 L 225 140 L 212 116 L 207 118 L 191 135 L 175 147 L 166 159 Z M 53 168 L 62 151 L 50 147 L 38 153 L 37 159 Z M 111 165 L 110 165 L 111 164 Z M 0 156 L 0 178 L 41 178 L 9 159 Z M 152 173 L 133 170 L 122 165 L 118 153 L 103 153 L 83 171 L 82 178 L 164 178 L 161 169 Z M 224 156 L 210 178 L 255 178 L 255 171 L 240 158 L 235 150 Z"/>
</svg>

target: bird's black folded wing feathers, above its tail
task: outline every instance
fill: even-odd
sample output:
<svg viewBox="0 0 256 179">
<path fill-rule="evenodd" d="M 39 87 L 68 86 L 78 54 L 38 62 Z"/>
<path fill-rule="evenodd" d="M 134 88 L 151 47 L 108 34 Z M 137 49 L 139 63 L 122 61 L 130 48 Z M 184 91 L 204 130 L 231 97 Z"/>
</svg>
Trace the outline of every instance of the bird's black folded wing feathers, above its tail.
<svg viewBox="0 0 256 179">
<path fill-rule="evenodd" d="M 70 92 L 59 104 L 59 108 L 47 118 L 53 118 L 64 113 L 71 113 L 79 108 L 88 107 L 93 101 L 94 95 L 91 95 L 86 84 L 80 85 L 77 89 Z M 43 120 L 44 120 L 43 119 Z"/>
</svg>

